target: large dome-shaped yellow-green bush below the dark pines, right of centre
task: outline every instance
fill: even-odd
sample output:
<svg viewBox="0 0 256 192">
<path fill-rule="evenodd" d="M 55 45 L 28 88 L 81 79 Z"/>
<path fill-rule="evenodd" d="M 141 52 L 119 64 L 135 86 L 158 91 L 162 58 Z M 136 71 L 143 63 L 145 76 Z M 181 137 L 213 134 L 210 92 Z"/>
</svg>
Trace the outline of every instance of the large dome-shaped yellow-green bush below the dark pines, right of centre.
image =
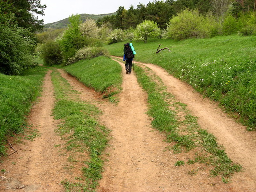
<svg viewBox="0 0 256 192">
<path fill-rule="evenodd" d="M 184 10 L 167 24 L 167 37 L 173 39 L 209 37 L 210 31 L 205 28 L 206 19 L 198 11 Z"/>
</svg>

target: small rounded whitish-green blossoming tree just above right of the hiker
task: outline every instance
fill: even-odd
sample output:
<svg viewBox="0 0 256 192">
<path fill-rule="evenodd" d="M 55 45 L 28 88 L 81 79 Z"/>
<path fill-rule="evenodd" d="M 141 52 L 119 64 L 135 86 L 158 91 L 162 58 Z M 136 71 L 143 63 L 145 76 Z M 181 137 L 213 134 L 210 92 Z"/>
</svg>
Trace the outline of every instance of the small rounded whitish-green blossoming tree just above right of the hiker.
<svg viewBox="0 0 256 192">
<path fill-rule="evenodd" d="M 147 43 L 149 37 L 158 37 L 161 34 L 161 30 L 154 21 L 144 20 L 136 27 L 134 34 L 136 40 L 143 40 L 144 43 Z"/>
</svg>

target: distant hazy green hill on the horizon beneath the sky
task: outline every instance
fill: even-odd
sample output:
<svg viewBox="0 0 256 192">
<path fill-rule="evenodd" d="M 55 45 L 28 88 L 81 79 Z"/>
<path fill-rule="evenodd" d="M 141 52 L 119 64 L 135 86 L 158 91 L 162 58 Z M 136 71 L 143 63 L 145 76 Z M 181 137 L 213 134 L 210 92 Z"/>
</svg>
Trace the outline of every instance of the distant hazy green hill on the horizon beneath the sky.
<svg viewBox="0 0 256 192">
<path fill-rule="evenodd" d="M 111 16 L 116 14 L 116 12 L 114 13 L 109 13 L 109 14 L 100 14 L 100 15 L 90 15 L 90 14 L 80 14 L 81 19 L 83 21 L 85 21 L 86 19 L 93 19 L 93 20 L 98 20 L 100 18 L 103 18 L 104 16 Z M 52 28 L 52 29 L 62 29 L 68 26 L 68 18 L 53 22 L 53 23 L 47 23 L 44 25 L 44 29 L 46 28 Z"/>
</svg>

